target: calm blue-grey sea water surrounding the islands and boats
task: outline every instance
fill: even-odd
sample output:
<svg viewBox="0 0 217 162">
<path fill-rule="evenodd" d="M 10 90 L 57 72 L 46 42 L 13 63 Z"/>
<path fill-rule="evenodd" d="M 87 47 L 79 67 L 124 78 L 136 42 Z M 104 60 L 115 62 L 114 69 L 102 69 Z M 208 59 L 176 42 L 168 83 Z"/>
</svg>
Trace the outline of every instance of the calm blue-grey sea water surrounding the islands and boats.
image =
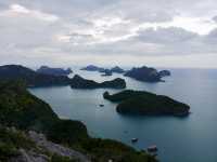
<svg viewBox="0 0 217 162">
<path fill-rule="evenodd" d="M 49 103 L 61 118 L 82 121 L 92 136 L 116 139 L 137 149 L 157 145 L 162 162 L 217 162 L 217 70 L 171 69 L 171 72 L 164 83 L 125 78 L 127 89 L 150 91 L 184 102 L 191 106 L 192 113 L 188 118 L 120 116 L 115 111 L 115 104 L 103 99 L 105 89 L 61 86 L 29 91 Z M 97 81 L 122 77 L 101 77 L 98 72 L 79 70 L 76 73 Z M 105 106 L 100 108 L 100 104 Z M 136 145 L 130 143 L 133 137 L 139 138 Z"/>
</svg>

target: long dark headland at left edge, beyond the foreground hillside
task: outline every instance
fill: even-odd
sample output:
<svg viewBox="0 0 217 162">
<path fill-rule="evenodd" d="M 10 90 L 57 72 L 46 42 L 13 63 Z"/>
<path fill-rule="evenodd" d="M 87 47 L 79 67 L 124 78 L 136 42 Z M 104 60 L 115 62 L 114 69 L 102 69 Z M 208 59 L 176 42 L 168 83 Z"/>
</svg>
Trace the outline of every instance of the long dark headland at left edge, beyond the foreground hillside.
<svg viewBox="0 0 217 162">
<path fill-rule="evenodd" d="M 66 76 L 39 73 L 21 65 L 0 66 L 0 79 L 23 80 L 29 87 L 68 85 L 71 82 L 71 79 Z"/>
</svg>

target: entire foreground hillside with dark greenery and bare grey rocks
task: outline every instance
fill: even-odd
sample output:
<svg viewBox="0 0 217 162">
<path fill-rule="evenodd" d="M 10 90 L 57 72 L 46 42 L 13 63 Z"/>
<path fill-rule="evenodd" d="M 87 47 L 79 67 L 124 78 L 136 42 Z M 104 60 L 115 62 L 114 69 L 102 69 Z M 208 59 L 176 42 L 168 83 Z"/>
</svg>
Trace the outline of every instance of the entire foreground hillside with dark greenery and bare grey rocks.
<svg viewBox="0 0 217 162">
<path fill-rule="evenodd" d="M 122 143 L 92 138 L 84 123 L 60 119 L 23 81 L 0 81 L 0 161 L 156 162 Z"/>
</svg>

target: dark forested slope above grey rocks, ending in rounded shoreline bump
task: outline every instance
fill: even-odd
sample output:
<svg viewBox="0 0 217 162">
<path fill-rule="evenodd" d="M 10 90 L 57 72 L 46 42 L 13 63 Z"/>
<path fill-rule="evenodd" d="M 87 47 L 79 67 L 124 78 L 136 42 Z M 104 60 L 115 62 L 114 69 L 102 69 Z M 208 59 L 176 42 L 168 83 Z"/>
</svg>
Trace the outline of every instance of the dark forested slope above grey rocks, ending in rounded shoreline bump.
<svg viewBox="0 0 217 162">
<path fill-rule="evenodd" d="M 88 136 L 81 122 L 59 119 L 50 106 L 26 91 L 22 82 L 1 82 L 0 90 L 0 121 L 4 125 L 42 132 L 60 143 Z"/>
</svg>

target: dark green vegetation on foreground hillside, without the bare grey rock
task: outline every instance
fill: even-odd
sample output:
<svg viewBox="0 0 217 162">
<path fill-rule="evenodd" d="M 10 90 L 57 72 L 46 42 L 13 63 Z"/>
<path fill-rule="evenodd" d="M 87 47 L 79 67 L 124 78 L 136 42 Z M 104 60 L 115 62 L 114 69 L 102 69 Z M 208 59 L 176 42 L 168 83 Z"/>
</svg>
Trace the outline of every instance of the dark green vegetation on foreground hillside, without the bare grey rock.
<svg viewBox="0 0 217 162">
<path fill-rule="evenodd" d="M 124 144 L 95 139 L 88 136 L 86 126 L 79 121 L 61 120 L 50 106 L 33 96 L 22 81 L 0 82 L 0 122 L 4 127 L 41 132 L 58 144 L 89 154 L 93 162 L 110 159 L 115 162 L 155 162 L 145 152 L 138 152 Z M 16 157 L 18 148 L 34 148 L 34 144 L 22 134 L 10 134 L 0 130 L 0 161 Z M 53 156 L 52 162 L 75 162 L 77 160 Z"/>
</svg>

